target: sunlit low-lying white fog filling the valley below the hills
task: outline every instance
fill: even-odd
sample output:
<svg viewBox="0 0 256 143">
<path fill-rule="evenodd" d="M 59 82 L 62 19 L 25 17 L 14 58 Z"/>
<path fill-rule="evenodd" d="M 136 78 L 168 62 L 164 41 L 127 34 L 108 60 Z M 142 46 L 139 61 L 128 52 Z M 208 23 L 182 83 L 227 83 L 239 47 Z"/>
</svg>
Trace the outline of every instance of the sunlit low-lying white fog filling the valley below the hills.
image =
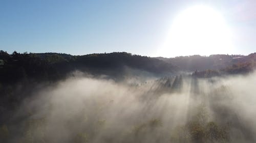
<svg viewBox="0 0 256 143">
<path fill-rule="evenodd" d="M 71 77 L 24 101 L 9 141 L 255 142 L 255 85 L 256 73 L 122 82 Z"/>
</svg>

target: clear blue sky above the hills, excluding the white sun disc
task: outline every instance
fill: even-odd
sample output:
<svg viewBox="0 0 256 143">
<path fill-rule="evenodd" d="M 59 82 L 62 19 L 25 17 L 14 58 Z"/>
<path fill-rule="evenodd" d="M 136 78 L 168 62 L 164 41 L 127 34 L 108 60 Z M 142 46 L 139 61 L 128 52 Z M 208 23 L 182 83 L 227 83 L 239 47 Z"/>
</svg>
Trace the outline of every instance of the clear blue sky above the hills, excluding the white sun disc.
<svg viewBox="0 0 256 143">
<path fill-rule="evenodd" d="M 214 52 L 249 54 L 256 51 L 256 2 L 235 0 L 0 0 L 0 49 L 8 53 L 74 55 L 125 51 L 174 57 L 190 48 L 189 51 L 194 52 L 184 52 L 185 55 L 207 55 L 207 45 L 199 50 L 163 44 L 169 40 L 175 17 L 196 5 L 221 13 L 232 31 L 232 47 L 228 50 L 210 47 L 217 49 Z"/>
</svg>

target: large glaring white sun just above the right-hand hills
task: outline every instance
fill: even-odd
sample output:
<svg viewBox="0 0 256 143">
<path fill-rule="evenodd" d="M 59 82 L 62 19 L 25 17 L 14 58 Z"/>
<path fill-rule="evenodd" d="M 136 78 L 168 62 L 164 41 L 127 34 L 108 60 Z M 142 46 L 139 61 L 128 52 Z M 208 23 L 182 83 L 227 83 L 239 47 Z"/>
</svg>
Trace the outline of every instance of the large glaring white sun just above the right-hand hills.
<svg viewBox="0 0 256 143">
<path fill-rule="evenodd" d="M 174 19 L 162 56 L 230 53 L 231 36 L 221 13 L 207 6 L 190 7 Z"/>
</svg>

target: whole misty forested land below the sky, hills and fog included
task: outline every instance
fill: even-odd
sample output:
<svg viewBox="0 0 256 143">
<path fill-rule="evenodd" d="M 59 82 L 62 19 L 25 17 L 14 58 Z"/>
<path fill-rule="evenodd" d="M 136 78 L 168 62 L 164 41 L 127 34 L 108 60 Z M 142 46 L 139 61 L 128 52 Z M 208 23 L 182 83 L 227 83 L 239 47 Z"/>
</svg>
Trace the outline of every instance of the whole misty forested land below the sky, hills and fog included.
<svg viewBox="0 0 256 143">
<path fill-rule="evenodd" d="M 1 50 L 0 142 L 255 142 L 255 57 Z"/>
</svg>

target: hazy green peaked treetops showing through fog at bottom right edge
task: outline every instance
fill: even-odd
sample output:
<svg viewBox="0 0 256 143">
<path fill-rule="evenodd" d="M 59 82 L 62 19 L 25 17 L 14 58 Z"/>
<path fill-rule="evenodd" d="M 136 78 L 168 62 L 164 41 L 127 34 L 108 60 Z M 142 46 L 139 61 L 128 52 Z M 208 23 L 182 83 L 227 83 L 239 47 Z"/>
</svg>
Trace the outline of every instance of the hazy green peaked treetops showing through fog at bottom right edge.
<svg viewBox="0 0 256 143">
<path fill-rule="evenodd" d="M 171 142 L 212 143 L 229 142 L 229 130 L 215 122 L 207 121 L 208 113 L 203 104 L 196 108 L 196 113 L 187 124 L 177 126 L 171 134 Z"/>
</svg>

